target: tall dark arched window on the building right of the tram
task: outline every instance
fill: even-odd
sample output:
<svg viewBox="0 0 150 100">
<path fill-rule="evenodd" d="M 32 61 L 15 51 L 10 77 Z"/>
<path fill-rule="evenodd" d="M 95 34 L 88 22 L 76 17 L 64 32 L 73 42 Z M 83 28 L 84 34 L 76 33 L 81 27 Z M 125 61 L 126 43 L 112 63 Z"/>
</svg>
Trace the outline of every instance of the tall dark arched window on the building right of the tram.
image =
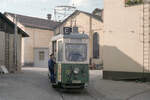
<svg viewBox="0 0 150 100">
<path fill-rule="evenodd" d="M 99 34 L 93 34 L 93 58 L 99 58 Z"/>
</svg>

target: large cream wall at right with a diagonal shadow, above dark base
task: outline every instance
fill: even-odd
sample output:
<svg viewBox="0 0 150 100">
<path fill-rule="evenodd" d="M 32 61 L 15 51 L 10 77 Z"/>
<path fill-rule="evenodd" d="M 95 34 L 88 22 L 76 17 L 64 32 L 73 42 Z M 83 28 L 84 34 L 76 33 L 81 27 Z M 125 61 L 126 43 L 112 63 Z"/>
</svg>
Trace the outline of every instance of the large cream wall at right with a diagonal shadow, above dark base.
<svg viewBox="0 0 150 100">
<path fill-rule="evenodd" d="M 104 0 L 104 71 L 142 72 L 142 5 Z"/>
</svg>

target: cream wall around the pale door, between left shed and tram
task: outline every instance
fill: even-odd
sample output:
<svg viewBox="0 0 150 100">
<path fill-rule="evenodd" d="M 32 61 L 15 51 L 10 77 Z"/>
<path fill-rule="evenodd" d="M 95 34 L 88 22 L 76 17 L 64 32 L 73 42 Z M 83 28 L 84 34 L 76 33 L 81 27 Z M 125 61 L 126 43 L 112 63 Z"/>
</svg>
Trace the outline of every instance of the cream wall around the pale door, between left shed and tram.
<svg viewBox="0 0 150 100">
<path fill-rule="evenodd" d="M 34 65 L 35 63 L 35 48 L 49 48 L 49 43 L 53 36 L 53 31 L 26 27 L 25 32 L 30 37 L 23 39 L 24 64 Z M 38 55 L 38 54 L 36 54 Z M 48 55 L 46 55 L 48 56 Z M 36 61 L 37 62 L 37 61 Z M 47 63 L 47 62 L 46 62 Z M 37 64 L 36 64 L 37 65 Z M 44 64 L 46 65 L 46 64 Z"/>
</svg>

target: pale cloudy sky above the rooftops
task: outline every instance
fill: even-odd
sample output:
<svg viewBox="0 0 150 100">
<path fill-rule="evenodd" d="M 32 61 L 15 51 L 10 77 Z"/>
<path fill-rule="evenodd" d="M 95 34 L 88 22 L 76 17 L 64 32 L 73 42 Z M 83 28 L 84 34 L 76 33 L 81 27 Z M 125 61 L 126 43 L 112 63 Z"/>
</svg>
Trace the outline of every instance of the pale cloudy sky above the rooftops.
<svg viewBox="0 0 150 100">
<path fill-rule="evenodd" d="M 0 0 L 0 12 L 46 18 L 48 13 L 54 15 L 54 8 L 60 5 L 74 4 L 78 10 L 92 12 L 103 8 L 103 0 Z"/>
</svg>

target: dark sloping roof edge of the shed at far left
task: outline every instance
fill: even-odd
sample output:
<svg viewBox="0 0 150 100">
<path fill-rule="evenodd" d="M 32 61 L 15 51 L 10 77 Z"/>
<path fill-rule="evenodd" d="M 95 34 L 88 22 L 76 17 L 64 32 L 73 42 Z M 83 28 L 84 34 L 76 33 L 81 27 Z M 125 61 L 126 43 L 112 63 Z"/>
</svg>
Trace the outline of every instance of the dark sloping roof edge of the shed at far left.
<svg viewBox="0 0 150 100">
<path fill-rule="evenodd" d="M 11 27 L 15 27 L 15 24 L 12 21 L 10 21 L 4 14 L 0 13 L 0 18 L 5 20 Z M 21 34 L 23 37 L 29 37 L 29 35 L 26 32 L 24 32 L 19 27 L 17 28 L 18 28 L 18 33 Z"/>
</svg>

